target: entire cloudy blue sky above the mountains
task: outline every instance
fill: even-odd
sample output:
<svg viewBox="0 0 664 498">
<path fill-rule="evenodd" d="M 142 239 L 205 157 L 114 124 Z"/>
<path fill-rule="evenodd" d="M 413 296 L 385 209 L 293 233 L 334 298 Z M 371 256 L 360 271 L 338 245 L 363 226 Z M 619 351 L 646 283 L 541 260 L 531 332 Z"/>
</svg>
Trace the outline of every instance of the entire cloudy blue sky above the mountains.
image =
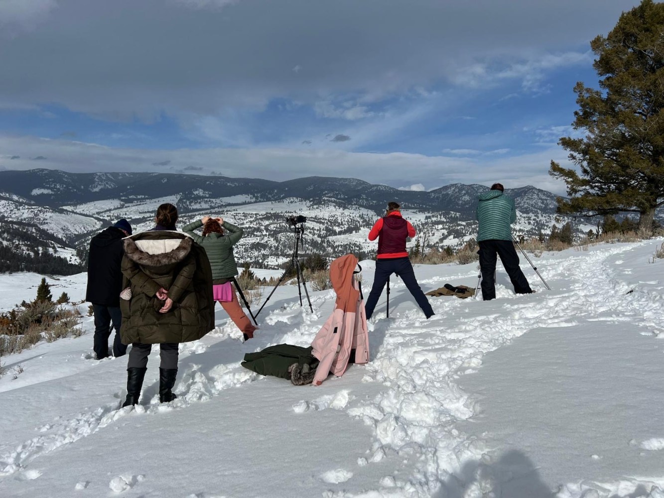
<svg viewBox="0 0 664 498">
<path fill-rule="evenodd" d="M 635 4 L 8 0 L 0 167 L 563 193 L 589 41 Z"/>
</svg>

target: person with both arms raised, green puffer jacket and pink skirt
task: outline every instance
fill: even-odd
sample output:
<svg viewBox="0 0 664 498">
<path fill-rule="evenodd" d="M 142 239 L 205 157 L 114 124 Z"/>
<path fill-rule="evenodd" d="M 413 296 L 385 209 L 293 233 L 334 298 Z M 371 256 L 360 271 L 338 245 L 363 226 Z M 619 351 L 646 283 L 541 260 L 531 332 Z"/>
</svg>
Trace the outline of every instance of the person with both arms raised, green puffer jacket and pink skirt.
<svg viewBox="0 0 664 498">
<path fill-rule="evenodd" d="M 194 230 L 203 227 L 203 236 Z M 228 232 L 224 233 L 224 230 Z M 258 328 L 242 311 L 238 296 L 231 285 L 231 280 L 238 274 L 238 266 L 233 255 L 233 246 L 238 243 L 244 231 L 223 218 L 210 218 L 203 216 L 200 220 L 188 224 L 183 232 L 191 236 L 195 242 L 201 244 L 210 260 L 212 267 L 212 293 L 214 300 L 219 301 L 224 311 L 242 331 L 244 340 L 254 337 Z"/>
</svg>

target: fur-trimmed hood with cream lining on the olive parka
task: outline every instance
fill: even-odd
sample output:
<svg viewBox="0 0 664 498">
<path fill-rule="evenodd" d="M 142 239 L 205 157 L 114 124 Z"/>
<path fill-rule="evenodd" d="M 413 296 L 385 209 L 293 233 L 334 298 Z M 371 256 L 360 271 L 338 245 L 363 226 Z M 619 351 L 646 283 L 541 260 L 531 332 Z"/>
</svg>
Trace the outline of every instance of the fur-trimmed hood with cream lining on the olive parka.
<svg viewBox="0 0 664 498">
<path fill-rule="evenodd" d="M 142 266 L 166 266 L 184 260 L 193 240 L 177 232 L 143 232 L 124 239 L 127 258 Z"/>
</svg>

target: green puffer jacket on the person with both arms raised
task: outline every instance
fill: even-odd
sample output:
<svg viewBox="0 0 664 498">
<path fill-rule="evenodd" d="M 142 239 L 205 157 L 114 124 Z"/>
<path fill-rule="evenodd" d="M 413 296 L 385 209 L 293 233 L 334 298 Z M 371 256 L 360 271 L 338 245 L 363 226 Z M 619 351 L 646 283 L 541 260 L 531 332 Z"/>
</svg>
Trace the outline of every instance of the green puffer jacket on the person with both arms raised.
<svg viewBox="0 0 664 498">
<path fill-rule="evenodd" d="M 210 260 L 210 266 L 212 267 L 212 283 L 223 284 L 238 274 L 238 266 L 233 255 L 233 246 L 242 238 L 244 230 L 239 226 L 224 221 L 222 227 L 228 232 L 228 235 L 212 232 L 203 237 L 194 232 L 194 230 L 201 228 L 201 226 L 203 226 L 203 222 L 196 220 L 185 226 L 182 231 L 191 236 L 197 244 L 201 244 L 205 249 L 208 260 Z"/>
</svg>

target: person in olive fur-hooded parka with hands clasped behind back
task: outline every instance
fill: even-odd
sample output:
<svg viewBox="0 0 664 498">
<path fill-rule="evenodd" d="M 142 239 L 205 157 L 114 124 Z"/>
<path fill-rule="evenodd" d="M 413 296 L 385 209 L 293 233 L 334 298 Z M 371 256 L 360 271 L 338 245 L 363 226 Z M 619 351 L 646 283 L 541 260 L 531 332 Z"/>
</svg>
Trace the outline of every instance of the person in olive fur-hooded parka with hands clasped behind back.
<svg viewBox="0 0 664 498">
<path fill-rule="evenodd" d="M 178 344 L 201 339 L 214 329 L 212 272 L 205 250 L 175 231 L 177 208 L 157 209 L 152 230 L 124 239 L 120 292 L 127 363 L 127 398 L 138 402 L 153 344 L 159 344 L 159 401 L 171 402 L 177 375 Z"/>
</svg>

